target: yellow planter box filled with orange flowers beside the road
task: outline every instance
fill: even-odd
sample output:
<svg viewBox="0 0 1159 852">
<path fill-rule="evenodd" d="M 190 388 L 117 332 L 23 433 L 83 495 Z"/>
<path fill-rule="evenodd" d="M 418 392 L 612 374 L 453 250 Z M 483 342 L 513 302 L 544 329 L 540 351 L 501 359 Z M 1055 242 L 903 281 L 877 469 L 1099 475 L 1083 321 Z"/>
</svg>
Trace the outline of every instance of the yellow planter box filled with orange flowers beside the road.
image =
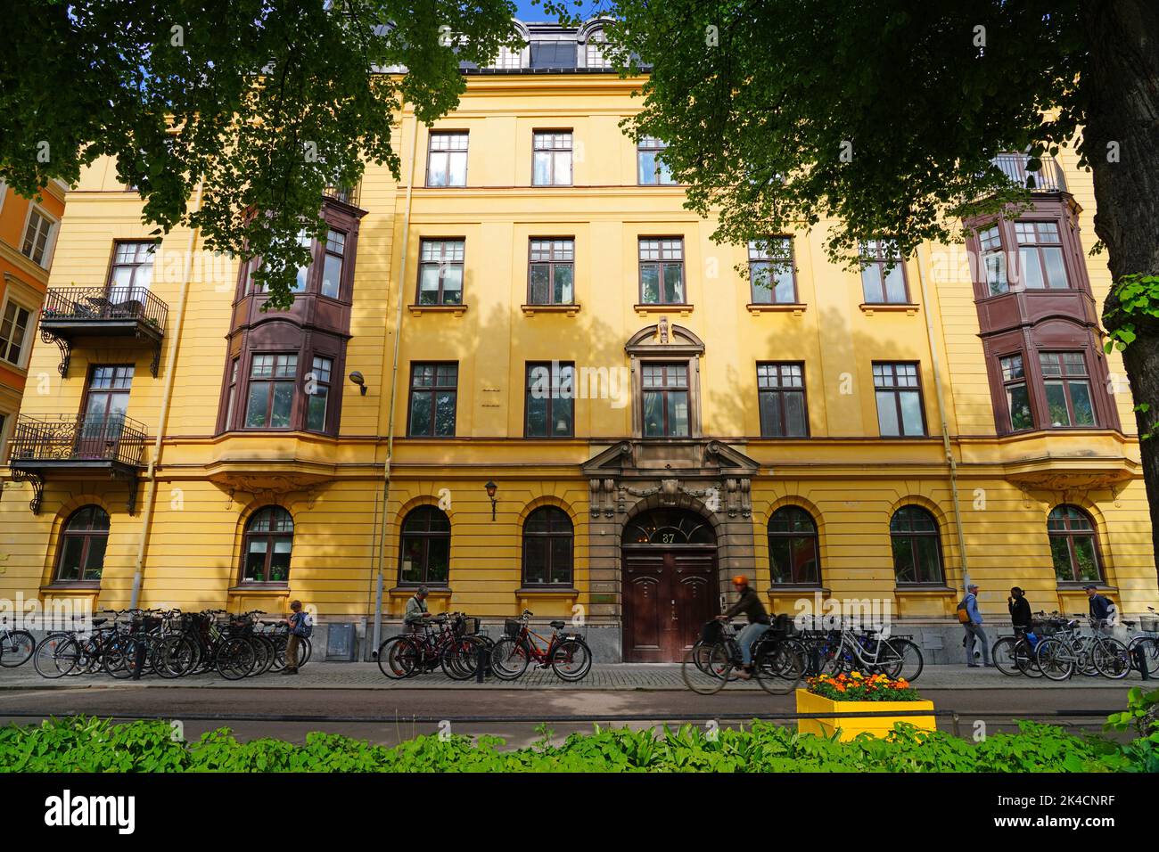
<svg viewBox="0 0 1159 852">
<path fill-rule="evenodd" d="M 918 730 L 936 730 L 933 715 L 872 715 L 857 713 L 906 713 L 910 711 L 933 712 L 934 702 L 925 701 L 909 682 L 884 675 L 818 675 L 807 682 L 807 687 L 796 691 L 797 713 L 840 713 L 839 719 L 799 719 L 797 730 L 846 742 L 859 734 L 885 736 L 897 722 L 912 724 Z M 848 715 L 845 715 L 848 714 Z"/>
</svg>

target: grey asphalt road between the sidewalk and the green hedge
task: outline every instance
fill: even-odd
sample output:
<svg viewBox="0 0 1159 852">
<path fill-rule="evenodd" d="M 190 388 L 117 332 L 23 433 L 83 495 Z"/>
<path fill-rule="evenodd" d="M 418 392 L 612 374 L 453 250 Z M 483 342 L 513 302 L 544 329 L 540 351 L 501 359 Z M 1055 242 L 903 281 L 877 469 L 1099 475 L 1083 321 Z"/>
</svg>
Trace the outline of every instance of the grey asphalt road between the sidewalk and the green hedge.
<svg viewBox="0 0 1159 852">
<path fill-rule="evenodd" d="M 1127 704 L 1127 686 L 1106 689 L 923 690 L 939 711 L 956 711 L 957 731 L 971 736 L 976 722 L 987 733 L 1012 730 L 1016 719 L 1035 719 L 1071 729 L 1101 730 L 1107 713 Z M 490 735 L 522 747 L 540 738 L 546 722 L 556 738 L 590 731 L 595 721 L 633 728 L 709 719 L 722 727 L 755 716 L 793 713 L 792 696 L 721 692 L 697 696 L 679 691 L 529 691 L 529 690 L 293 690 L 293 689 L 89 689 L 0 692 L 0 723 L 29 723 L 50 715 L 79 713 L 133 719 L 180 720 L 187 740 L 228 727 L 241 740 L 274 736 L 302 742 L 312 730 L 394 745 L 417 734 L 450 730 Z M 1084 715 L 1087 711 L 1095 715 Z M 12 715 L 19 714 L 19 715 Z M 578 718 L 578 719 L 576 719 Z M 792 723 L 786 721 L 785 723 Z M 950 719 L 939 727 L 953 730 Z"/>
</svg>

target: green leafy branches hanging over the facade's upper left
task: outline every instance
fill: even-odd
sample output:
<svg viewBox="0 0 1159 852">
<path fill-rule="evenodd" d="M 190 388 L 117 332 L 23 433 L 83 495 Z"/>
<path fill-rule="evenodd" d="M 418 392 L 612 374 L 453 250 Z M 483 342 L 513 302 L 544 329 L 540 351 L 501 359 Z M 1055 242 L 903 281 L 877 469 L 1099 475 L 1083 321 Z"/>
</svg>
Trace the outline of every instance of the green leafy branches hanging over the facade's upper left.
<svg viewBox="0 0 1159 852">
<path fill-rule="evenodd" d="M 322 230 L 323 188 L 356 185 L 366 162 L 398 176 L 403 101 L 424 122 L 454 109 L 459 60 L 487 63 L 512 42 L 513 12 L 509 0 L 172 0 L 160 14 L 146 0 L 15 3 L 0 177 L 31 197 L 115 156 L 146 221 L 261 257 L 255 277 L 285 307 L 308 262 L 298 234 Z M 398 66 L 409 73 L 378 73 Z"/>
</svg>

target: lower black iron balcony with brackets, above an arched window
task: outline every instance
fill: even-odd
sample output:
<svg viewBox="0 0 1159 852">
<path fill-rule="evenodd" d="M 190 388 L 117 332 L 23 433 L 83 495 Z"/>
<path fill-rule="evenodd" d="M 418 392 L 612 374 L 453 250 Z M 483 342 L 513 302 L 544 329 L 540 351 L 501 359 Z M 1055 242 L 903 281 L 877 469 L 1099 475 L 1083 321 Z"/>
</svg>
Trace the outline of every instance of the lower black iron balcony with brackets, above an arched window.
<svg viewBox="0 0 1159 852">
<path fill-rule="evenodd" d="M 48 476 L 104 473 L 129 482 L 129 514 L 137 508 L 137 476 L 144 467 L 145 425 L 124 415 L 27 415 L 16 418 L 8 467 L 32 485 L 29 508 L 41 512 Z"/>
</svg>

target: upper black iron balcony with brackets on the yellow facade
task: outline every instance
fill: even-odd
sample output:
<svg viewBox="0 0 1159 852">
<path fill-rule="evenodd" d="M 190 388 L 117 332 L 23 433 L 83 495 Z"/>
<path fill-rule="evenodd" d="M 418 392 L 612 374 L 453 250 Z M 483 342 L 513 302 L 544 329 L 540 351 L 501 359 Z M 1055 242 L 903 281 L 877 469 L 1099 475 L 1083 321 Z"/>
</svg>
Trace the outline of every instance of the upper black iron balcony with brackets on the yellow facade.
<svg viewBox="0 0 1159 852">
<path fill-rule="evenodd" d="M 156 378 L 169 306 L 147 287 L 51 287 L 41 314 L 41 340 L 60 349 L 57 372 L 68 376 L 79 337 L 139 340 L 153 349 L 150 372 Z"/>
</svg>

